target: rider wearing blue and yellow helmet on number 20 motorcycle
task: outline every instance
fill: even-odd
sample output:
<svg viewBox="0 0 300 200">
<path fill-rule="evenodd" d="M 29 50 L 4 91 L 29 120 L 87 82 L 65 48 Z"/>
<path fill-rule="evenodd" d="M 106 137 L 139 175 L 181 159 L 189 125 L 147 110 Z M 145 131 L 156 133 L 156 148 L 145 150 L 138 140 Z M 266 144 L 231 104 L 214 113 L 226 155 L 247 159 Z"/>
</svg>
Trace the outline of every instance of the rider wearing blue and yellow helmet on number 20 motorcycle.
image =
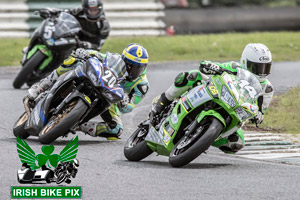
<svg viewBox="0 0 300 200">
<path fill-rule="evenodd" d="M 147 50 L 139 44 L 129 44 L 123 51 L 122 55 L 117 53 L 106 52 L 99 53 L 93 50 L 77 49 L 64 64 L 54 70 L 45 79 L 34 84 L 29 90 L 25 98 L 29 98 L 32 102 L 39 94 L 50 89 L 56 82 L 58 77 L 70 70 L 81 65 L 82 60 L 90 56 L 97 57 L 100 61 L 105 59 L 108 61 L 108 66 L 118 74 L 119 83 L 123 87 L 127 97 L 118 104 L 113 104 L 107 111 L 101 114 L 104 122 L 86 122 L 80 125 L 79 130 L 89 134 L 90 136 L 106 137 L 108 140 L 117 140 L 123 131 L 121 113 L 131 112 L 135 106 L 144 98 L 149 88 L 149 82 L 146 76 L 148 66 Z M 115 71 L 112 68 L 117 65 L 124 65 L 121 71 Z M 124 70 L 123 70 L 124 69 Z M 25 101 L 24 101 L 25 102 Z"/>
</svg>

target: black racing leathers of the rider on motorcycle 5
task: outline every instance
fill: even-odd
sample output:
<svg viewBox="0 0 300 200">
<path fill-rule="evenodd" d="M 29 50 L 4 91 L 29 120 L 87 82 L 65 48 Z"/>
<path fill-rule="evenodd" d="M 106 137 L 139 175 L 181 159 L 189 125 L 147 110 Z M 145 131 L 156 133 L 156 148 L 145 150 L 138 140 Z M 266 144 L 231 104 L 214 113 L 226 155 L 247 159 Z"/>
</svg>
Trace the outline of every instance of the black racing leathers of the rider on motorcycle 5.
<svg viewBox="0 0 300 200">
<path fill-rule="evenodd" d="M 78 34 L 81 41 L 80 46 L 85 49 L 101 50 L 110 32 L 110 24 L 104 12 L 97 22 L 87 21 L 82 7 L 70 9 L 69 12 L 79 21 L 82 27 Z"/>
</svg>

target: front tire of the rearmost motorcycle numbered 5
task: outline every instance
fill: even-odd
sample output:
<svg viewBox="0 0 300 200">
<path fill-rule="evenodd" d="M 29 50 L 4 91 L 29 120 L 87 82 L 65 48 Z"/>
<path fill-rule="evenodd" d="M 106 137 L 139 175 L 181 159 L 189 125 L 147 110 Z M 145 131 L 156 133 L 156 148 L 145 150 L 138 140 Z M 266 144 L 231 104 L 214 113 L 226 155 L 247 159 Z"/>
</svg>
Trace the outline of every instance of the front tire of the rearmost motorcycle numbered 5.
<svg viewBox="0 0 300 200">
<path fill-rule="evenodd" d="M 13 87 L 15 89 L 21 88 L 22 85 L 26 83 L 28 77 L 32 74 L 32 71 L 35 70 L 45 58 L 45 54 L 43 54 L 41 51 L 37 51 L 22 67 L 21 71 L 13 82 Z"/>
</svg>

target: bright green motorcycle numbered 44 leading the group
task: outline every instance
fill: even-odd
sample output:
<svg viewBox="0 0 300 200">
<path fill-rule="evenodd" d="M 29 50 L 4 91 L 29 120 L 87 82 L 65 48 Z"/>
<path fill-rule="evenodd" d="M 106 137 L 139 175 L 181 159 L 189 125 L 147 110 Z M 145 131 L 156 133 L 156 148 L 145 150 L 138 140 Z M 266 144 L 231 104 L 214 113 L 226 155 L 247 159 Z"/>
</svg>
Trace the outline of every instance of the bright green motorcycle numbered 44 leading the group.
<svg viewBox="0 0 300 200">
<path fill-rule="evenodd" d="M 224 69 L 167 106 L 155 127 L 150 119 L 143 121 L 127 140 L 124 155 L 140 161 L 157 152 L 169 156 L 171 166 L 184 166 L 253 118 L 262 94 L 251 72 L 239 68 L 234 75 Z"/>
</svg>

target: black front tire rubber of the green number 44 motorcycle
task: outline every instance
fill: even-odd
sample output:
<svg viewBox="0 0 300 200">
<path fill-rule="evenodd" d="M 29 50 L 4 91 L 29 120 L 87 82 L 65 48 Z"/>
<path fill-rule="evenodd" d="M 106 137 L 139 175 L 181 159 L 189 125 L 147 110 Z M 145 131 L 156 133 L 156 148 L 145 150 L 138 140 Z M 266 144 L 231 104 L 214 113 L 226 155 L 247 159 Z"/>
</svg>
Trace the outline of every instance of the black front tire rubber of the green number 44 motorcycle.
<svg viewBox="0 0 300 200">
<path fill-rule="evenodd" d="M 223 129 L 223 124 L 216 118 L 211 117 L 211 123 L 207 129 L 204 129 L 204 133 L 198 134 L 183 152 L 177 149 L 177 147 L 183 142 L 182 137 L 172 149 L 169 155 L 169 164 L 172 167 L 182 167 L 194 159 L 196 159 L 201 153 L 206 151 L 212 143 L 218 138 Z"/>
</svg>

